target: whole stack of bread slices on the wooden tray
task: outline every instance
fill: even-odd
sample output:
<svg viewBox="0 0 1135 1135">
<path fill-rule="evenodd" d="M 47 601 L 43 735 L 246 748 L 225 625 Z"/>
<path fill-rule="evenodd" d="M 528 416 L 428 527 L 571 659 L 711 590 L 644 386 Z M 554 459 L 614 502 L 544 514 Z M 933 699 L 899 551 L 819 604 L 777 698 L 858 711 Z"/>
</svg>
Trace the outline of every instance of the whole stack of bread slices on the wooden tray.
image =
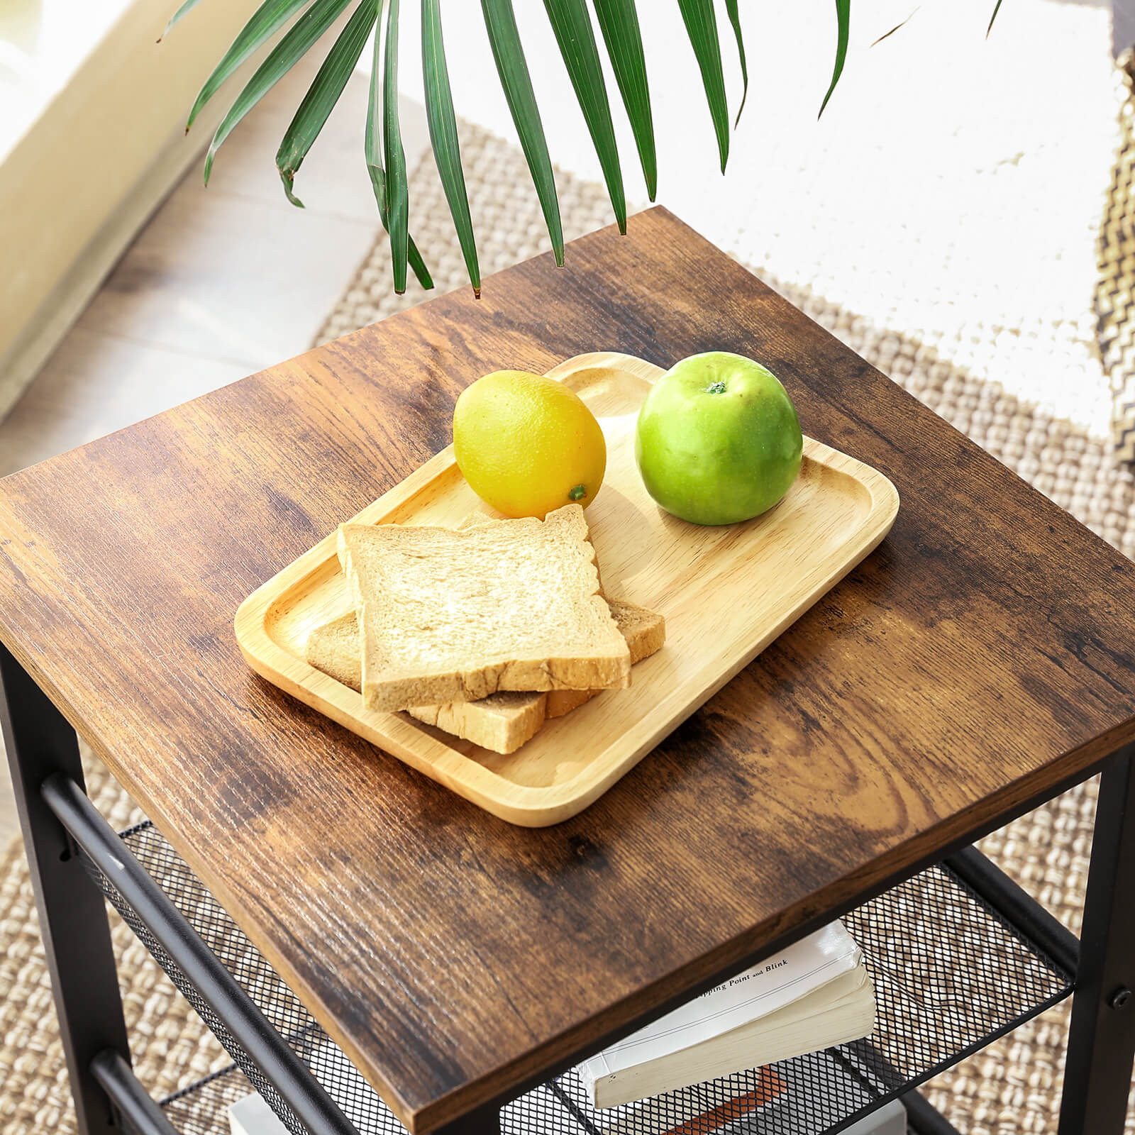
<svg viewBox="0 0 1135 1135">
<path fill-rule="evenodd" d="M 362 695 L 496 753 L 548 717 L 630 686 L 662 615 L 608 598 L 578 504 L 541 521 L 456 529 L 343 524 L 354 611 L 308 637 L 308 662 Z"/>
</svg>

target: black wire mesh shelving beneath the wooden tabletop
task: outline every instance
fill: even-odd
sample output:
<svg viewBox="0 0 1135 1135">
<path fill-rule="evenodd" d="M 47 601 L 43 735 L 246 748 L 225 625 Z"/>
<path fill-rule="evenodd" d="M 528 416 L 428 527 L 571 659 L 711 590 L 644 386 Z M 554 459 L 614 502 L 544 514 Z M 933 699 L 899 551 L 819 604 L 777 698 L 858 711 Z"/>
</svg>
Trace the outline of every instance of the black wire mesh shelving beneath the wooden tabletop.
<svg viewBox="0 0 1135 1135">
<path fill-rule="evenodd" d="M 124 832 L 123 839 L 360 1135 L 400 1135 L 402 1125 L 157 830 L 141 824 Z M 247 1094 L 251 1082 L 288 1130 L 306 1135 L 134 910 L 100 872 L 91 869 L 236 1065 L 163 1101 L 173 1123 L 185 1135 L 228 1135 L 225 1108 Z M 942 866 L 901 883 L 843 920 L 875 982 L 878 1016 L 868 1040 L 603 1111 L 587 1102 L 578 1076 L 568 1073 L 511 1103 L 502 1112 L 502 1132 L 834 1133 L 1071 990 L 1069 974 Z"/>
</svg>

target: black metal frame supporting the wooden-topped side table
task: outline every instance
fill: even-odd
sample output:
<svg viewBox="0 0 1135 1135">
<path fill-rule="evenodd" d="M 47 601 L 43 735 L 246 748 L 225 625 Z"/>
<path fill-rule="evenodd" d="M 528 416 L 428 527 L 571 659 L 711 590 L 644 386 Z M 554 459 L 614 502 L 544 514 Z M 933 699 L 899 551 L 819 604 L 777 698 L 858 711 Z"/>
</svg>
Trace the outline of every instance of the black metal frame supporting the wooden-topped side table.
<svg viewBox="0 0 1135 1135">
<path fill-rule="evenodd" d="M 124 1120 L 141 1135 L 170 1135 L 174 1130 L 129 1068 L 106 911 L 101 892 L 76 854 L 79 848 L 112 880 L 312 1135 L 356 1135 L 337 1104 L 90 802 L 74 732 L 3 646 L 0 686 L 0 722 L 44 931 L 79 1135 L 112 1135 L 123 1129 Z M 1124 1125 L 1135 1054 L 1135 951 L 1125 950 L 1135 935 L 1135 907 L 1123 901 L 1135 885 L 1135 824 L 1126 824 L 1128 805 L 1135 816 L 1133 759 L 1135 746 L 1128 746 L 1105 765 L 1083 947 L 975 849 L 961 847 L 944 861 L 992 909 L 1028 933 L 1053 961 L 1077 974 L 1060 1135 L 1119 1135 Z M 1070 779 L 1058 791 L 1093 771 Z M 1000 817 L 999 824 L 1040 802 L 1028 801 L 1019 813 Z M 980 834 L 972 833 L 970 839 Z M 901 878 L 917 869 L 920 865 Z M 878 891 L 901 878 L 889 880 Z M 842 913 L 830 911 L 825 918 Z M 810 928 L 800 927 L 792 939 Z M 722 974 L 714 982 L 726 976 Z M 669 1008 L 658 1007 L 657 1014 Z M 439 1128 L 439 1135 L 499 1135 L 499 1107 L 528 1086 Z M 903 1102 L 915 1130 L 956 1135 L 918 1093 L 907 1093 Z"/>
</svg>

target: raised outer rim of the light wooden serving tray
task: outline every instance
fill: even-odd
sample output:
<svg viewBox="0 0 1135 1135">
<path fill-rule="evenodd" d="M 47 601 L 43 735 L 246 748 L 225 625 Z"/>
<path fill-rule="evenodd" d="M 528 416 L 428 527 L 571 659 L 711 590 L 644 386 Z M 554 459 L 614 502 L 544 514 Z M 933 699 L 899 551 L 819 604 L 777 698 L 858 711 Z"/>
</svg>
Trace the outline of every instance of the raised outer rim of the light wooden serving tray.
<svg viewBox="0 0 1135 1135">
<path fill-rule="evenodd" d="M 547 375 L 550 378 L 563 379 L 570 375 L 598 368 L 625 370 L 651 382 L 664 373 L 662 368 L 634 355 L 614 351 L 595 351 L 573 355 L 553 367 L 547 371 Z M 718 680 L 709 683 L 707 689 L 699 690 L 695 698 L 693 708 L 689 713 L 693 713 L 704 705 L 770 642 L 775 640 L 805 611 L 868 556 L 883 540 L 894 522 L 899 510 L 899 494 L 891 481 L 877 469 L 807 436 L 804 439 L 804 452 L 810 460 L 844 473 L 864 488 L 869 497 L 867 513 L 857 529 L 856 538 L 848 541 L 849 554 L 846 560 L 841 560 L 839 570 L 825 575 L 816 587 L 810 588 L 804 598 L 787 612 L 773 631 L 763 640 L 757 640 L 751 651 L 743 651 L 735 664 L 722 671 Z M 449 471 L 454 465 L 453 446 L 448 445 L 380 497 L 361 508 L 350 520 L 340 523 L 369 524 L 378 522 L 382 516 L 400 508 L 435 478 Z M 384 753 L 417 768 L 431 780 L 438 781 L 486 812 L 524 827 L 545 827 L 561 823 L 590 806 L 608 788 L 630 772 L 662 738 L 676 729 L 681 721 L 689 716 L 687 713 L 667 722 L 663 733 L 653 735 L 646 742 L 641 740 L 634 742 L 629 753 L 623 758 L 613 762 L 603 775 L 595 776 L 591 773 L 589 776 L 589 767 L 585 766 L 569 781 L 553 785 L 533 787 L 504 781 L 503 777 L 486 768 L 478 760 L 436 739 L 420 723 L 412 723 L 401 714 L 363 711 L 364 716 L 356 716 L 348 713 L 331 696 L 344 687 L 277 644 L 268 629 L 276 602 L 308 575 L 322 569 L 329 558 L 337 558 L 337 530 L 338 526 L 261 583 L 237 607 L 234 630 L 245 662 L 257 674 L 285 693 L 351 730 Z M 326 695 L 321 690 L 326 690 Z M 354 691 L 351 692 L 354 693 Z M 370 732 L 362 731 L 360 725 L 369 729 Z M 636 732 L 644 732 L 641 725 L 638 726 L 637 731 L 632 730 L 629 734 L 624 733 L 623 737 L 633 737 Z M 587 780 L 586 787 L 575 789 L 574 785 L 583 779 Z M 493 784 L 501 782 L 508 785 L 510 799 L 507 801 L 502 801 L 491 791 Z"/>
</svg>

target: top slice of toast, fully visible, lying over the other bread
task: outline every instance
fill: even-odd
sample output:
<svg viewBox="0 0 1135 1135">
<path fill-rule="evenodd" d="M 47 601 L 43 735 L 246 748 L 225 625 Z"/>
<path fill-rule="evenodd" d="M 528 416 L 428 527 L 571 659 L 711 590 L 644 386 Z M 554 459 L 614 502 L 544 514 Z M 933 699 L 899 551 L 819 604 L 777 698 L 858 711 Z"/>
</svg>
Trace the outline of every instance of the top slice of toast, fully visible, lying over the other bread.
<svg viewBox="0 0 1135 1135">
<path fill-rule="evenodd" d="M 369 709 L 630 684 L 579 505 L 462 531 L 343 524 L 338 552 Z"/>
</svg>

